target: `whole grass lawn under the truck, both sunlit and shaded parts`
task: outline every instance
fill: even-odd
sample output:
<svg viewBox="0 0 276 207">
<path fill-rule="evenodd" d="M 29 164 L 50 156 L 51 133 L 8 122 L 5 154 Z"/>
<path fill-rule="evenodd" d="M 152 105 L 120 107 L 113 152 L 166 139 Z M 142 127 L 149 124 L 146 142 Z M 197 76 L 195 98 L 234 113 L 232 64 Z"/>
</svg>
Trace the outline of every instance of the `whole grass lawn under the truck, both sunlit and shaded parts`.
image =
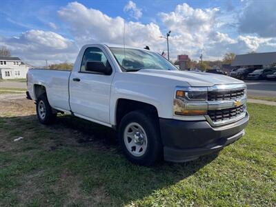
<svg viewBox="0 0 276 207">
<path fill-rule="evenodd" d="M 109 128 L 42 126 L 32 101 L 0 101 L 0 206 L 276 206 L 276 107 L 248 110 L 246 135 L 219 155 L 146 168 Z"/>
</svg>

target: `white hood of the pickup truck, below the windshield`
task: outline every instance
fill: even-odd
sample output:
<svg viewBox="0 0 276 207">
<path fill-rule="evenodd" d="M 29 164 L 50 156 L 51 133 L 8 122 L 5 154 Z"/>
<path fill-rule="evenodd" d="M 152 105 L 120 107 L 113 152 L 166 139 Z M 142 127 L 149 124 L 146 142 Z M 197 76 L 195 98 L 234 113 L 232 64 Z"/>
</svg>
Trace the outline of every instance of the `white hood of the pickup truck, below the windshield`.
<svg viewBox="0 0 276 207">
<path fill-rule="evenodd" d="M 190 86 L 214 86 L 219 84 L 244 83 L 244 81 L 240 81 L 226 75 L 218 75 L 209 72 L 142 69 L 137 71 L 137 73 L 141 75 L 151 75 L 155 77 L 184 81 Z"/>
</svg>

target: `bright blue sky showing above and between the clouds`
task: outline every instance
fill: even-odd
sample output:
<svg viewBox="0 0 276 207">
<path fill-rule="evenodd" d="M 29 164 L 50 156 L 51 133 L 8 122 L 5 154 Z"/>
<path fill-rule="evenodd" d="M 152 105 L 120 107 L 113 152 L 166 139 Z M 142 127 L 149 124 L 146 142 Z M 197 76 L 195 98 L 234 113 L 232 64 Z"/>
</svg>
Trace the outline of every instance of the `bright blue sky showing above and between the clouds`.
<svg viewBox="0 0 276 207">
<path fill-rule="evenodd" d="M 55 23 L 57 26 L 62 26 L 57 16 L 57 10 L 66 6 L 72 1 L 1 1 L 1 29 L 0 35 L 15 35 L 25 32 L 30 29 L 51 30 L 48 26 L 48 21 Z M 123 17 L 127 20 L 133 20 L 127 12 L 124 12 L 124 6 L 128 3 L 125 1 L 77 1 L 88 8 L 94 8 L 108 14 L 110 17 Z M 150 23 L 150 21 L 159 21 L 159 12 L 170 12 L 175 9 L 175 6 L 181 3 L 188 3 L 193 8 L 221 8 L 224 11 L 228 7 L 241 6 L 241 1 L 137 1 L 137 6 L 142 9 L 143 16 L 139 21 L 141 23 Z M 165 31 L 166 28 L 164 28 Z M 66 37 L 70 37 L 70 33 L 63 33 Z"/>
</svg>

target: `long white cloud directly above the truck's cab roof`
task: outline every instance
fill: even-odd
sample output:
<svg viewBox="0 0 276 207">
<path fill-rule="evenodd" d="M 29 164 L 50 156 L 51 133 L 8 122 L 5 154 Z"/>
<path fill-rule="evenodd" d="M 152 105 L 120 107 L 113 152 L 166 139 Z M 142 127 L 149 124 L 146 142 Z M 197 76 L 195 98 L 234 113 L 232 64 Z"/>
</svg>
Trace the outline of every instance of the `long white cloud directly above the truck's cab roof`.
<svg viewBox="0 0 276 207">
<path fill-rule="evenodd" d="M 68 3 L 58 11 L 59 17 L 75 37 L 79 46 L 85 43 L 123 43 L 124 19 L 108 17 L 99 10 L 86 8 L 81 3 Z M 161 31 L 155 23 L 125 22 L 125 42 L 131 46 L 151 46 L 162 42 Z"/>
</svg>

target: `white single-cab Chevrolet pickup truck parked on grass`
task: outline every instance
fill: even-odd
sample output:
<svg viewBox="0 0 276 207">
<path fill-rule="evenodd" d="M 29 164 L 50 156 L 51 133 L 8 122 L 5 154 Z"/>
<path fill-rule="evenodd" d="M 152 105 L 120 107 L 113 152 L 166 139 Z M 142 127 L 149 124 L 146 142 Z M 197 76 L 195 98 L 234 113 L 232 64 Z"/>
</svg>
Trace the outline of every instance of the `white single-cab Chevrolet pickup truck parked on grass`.
<svg viewBox="0 0 276 207">
<path fill-rule="evenodd" d="M 31 69 L 27 78 L 42 124 L 66 112 L 114 128 L 126 157 L 146 166 L 221 150 L 249 120 L 243 81 L 179 71 L 141 48 L 86 45 L 72 71 Z"/>
</svg>

